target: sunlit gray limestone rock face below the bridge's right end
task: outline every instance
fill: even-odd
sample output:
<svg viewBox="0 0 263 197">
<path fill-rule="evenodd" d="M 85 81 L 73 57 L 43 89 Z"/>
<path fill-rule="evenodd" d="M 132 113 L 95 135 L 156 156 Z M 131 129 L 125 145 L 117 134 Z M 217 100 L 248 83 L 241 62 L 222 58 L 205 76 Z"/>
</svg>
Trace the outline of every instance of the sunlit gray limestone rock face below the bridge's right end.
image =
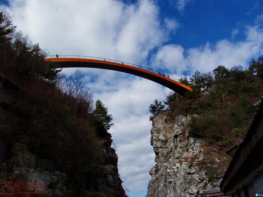
<svg viewBox="0 0 263 197">
<path fill-rule="evenodd" d="M 207 190 L 207 173 L 199 163 L 204 138 L 189 137 L 188 120 L 182 115 L 169 120 L 166 111 L 154 117 L 151 145 L 157 164 L 149 170 L 147 197 L 196 196 Z"/>
</svg>

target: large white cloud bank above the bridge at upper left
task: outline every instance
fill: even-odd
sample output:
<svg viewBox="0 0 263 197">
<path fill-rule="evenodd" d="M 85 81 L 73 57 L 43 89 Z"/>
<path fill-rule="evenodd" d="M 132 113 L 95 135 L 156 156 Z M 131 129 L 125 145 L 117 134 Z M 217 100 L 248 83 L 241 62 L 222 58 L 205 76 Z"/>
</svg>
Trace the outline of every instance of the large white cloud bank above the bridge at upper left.
<svg viewBox="0 0 263 197">
<path fill-rule="evenodd" d="M 77 54 L 145 61 L 176 27 L 159 19 L 150 0 L 126 5 L 117 0 L 64 1 L 12 0 L 7 8 L 17 29 L 51 54 Z M 167 31 L 164 31 L 167 30 Z"/>
</svg>

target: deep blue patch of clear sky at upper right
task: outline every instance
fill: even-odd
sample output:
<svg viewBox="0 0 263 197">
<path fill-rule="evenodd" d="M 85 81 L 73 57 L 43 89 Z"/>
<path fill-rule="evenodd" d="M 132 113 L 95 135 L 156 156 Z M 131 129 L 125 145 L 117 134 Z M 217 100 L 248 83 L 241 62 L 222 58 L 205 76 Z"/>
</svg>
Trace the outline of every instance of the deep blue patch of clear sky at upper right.
<svg viewBox="0 0 263 197">
<path fill-rule="evenodd" d="M 159 3 L 165 13 L 165 3 Z M 258 1 L 260 4 L 260 1 Z M 168 7 L 169 8 L 169 7 Z M 231 39 L 232 31 L 244 30 L 246 25 L 254 24 L 255 16 L 260 15 L 262 3 L 255 5 L 255 1 L 193 1 L 189 2 L 180 13 L 170 7 L 164 15 L 176 18 L 182 28 L 172 37 L 171 43 L 180 43 L 182 47 L 198 47 L 206 42 L 215 43 L 221 39 Z M 261 11 L 262 12 L 262 11 Z M 244 39 L 243 33 L 236 35 L 235 40 Z"/>
</svg>

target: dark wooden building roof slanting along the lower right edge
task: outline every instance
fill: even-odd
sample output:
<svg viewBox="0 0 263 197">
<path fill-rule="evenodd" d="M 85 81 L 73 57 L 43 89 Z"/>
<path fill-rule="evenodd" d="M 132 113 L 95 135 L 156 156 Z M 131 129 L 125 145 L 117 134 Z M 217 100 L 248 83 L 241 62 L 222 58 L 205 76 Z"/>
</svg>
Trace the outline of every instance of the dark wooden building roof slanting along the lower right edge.
<svg viewBox="0 0 263 197">
<path fill-rule="evenodd" d="M 248 185 L 263 171 L 263 96 L 248 127 L 243 141 L 239 144 L 227 171 L 220 183 L 225 195 L 236 193 Z"/>
</svg>

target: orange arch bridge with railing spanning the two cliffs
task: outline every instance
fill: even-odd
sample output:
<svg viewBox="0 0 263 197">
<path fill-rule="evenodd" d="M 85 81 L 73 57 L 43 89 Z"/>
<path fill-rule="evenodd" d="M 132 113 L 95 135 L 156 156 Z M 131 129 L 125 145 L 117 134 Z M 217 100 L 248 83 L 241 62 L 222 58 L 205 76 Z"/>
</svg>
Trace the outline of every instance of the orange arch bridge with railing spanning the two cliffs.
<svg viewBox="0 0 263 197">
<path fill-rule="evenodd" d="M 154 81 L 181 95 L 187 91 L 193 91 L 192 88 L 180 83 L 173 77 L 149 68 L 117 60 L 90 56 L 48 55 L 45 61 L 56 62 L 55 68 L 101 68 L 133 74 Z"/>
</svg>

